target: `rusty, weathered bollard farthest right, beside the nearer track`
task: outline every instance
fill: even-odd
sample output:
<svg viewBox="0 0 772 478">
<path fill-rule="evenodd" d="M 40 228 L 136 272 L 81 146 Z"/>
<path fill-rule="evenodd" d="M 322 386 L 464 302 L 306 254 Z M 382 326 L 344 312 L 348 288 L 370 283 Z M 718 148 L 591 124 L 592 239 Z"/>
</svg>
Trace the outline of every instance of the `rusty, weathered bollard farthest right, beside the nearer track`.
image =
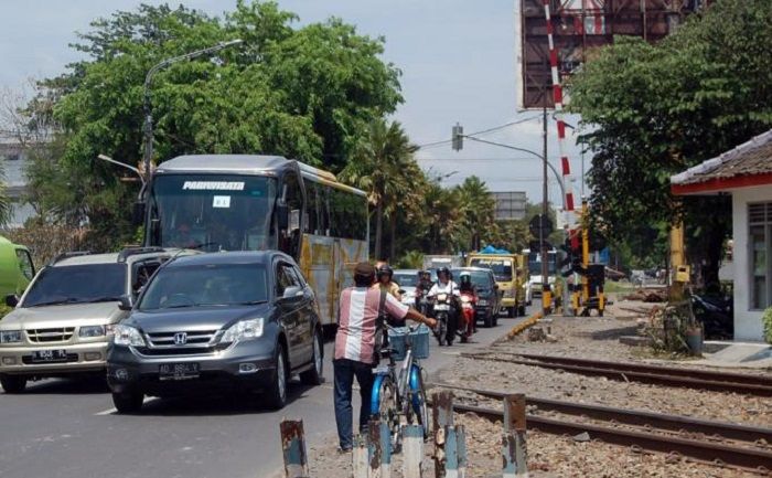
<svg viewBox="0 0 772 478">
<path fill-rule="evenodd" d="M 504 434 L 502 435 L 504 478 L 528 476 L 525 434 L 525 395 L 522 393 L 507 395 L 504 397 Z"/>
</svg>

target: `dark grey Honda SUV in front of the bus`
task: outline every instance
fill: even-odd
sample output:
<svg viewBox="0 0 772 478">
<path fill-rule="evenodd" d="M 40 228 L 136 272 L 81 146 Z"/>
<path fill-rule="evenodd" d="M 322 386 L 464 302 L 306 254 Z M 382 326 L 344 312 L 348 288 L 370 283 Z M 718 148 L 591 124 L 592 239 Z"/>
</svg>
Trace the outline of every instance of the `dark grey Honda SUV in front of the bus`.
<svg viewBox="0 0 772 478">
<path fill-rule="evenodd" d="M 116 326 L 107 379 L 120 413 L 213 389 L 266 392 L 281 408 L 292 373 L 321 383 L 322 353 L 313 291 L 290 256 L 201 254 L 164 264 Z"/>
</svg>

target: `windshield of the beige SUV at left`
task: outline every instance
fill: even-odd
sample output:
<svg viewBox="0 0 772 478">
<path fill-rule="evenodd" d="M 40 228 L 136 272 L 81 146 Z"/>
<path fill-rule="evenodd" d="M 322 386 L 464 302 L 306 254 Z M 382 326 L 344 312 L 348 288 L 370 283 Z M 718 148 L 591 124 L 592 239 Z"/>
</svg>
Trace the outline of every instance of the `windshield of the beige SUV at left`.
<svg viewBox="0 0 772 478">
<path fill-rule="evenodd" d="M 106 302 L 127 294 L 126 264 L 46 267 L 26 293 L 22 307 Z"/>
</svg>

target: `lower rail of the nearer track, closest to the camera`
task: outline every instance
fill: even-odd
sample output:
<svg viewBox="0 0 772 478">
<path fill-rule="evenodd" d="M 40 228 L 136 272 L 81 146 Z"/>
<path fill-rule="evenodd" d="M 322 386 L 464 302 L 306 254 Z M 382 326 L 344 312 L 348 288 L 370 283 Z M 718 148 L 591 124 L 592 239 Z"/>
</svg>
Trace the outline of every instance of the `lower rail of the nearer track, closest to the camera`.
<svg viewBox="0 0 772 478">
<path fill-rule="evenodd" d="M 504 412 L 479 406 L 453 404 L 453 410 L 461 413 L 474 413 L 494 421 L 503 419 L 504 417 Z M 587 432 L 592 439 L 599 439 L 612 445 L 634 446 L 651 452 L 677 453 L 700 461 L 742 468 L 762 475 L 769 475 L 769 467 L 772 465 L 772 453 L 764 450 L 629 429 L 608 428 L 585 423 L 570 423 L 538 415 L 527 415 L 526 422 L 535 431 L 551 435 L 573 436 Z"/>
</svg>

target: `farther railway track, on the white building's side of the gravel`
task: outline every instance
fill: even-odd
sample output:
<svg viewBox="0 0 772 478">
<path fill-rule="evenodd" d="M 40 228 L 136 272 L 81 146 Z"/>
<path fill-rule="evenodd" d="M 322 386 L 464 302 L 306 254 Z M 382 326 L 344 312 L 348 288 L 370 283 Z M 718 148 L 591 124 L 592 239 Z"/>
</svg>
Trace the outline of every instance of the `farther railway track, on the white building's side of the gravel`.
<svg viewBox="0 0 772 478">
<path fill-rule="evenodd" d="M 762 375 L 495 351 L 461 353 L 461 357 L 562 370 L 582 375 L 605 376 L 625 382 L 772 396 L 772 378 Z"/>
</svg>

